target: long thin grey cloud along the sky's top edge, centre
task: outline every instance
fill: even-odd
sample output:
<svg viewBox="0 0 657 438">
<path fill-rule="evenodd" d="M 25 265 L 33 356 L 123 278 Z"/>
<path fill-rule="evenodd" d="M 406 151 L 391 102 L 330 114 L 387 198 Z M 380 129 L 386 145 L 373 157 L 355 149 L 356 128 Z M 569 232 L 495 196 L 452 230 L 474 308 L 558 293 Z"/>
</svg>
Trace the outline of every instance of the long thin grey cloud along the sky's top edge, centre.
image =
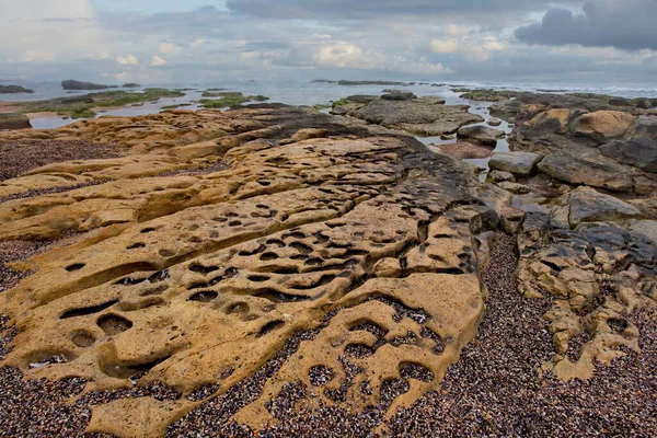
<svg viewBox="0 0 657 438">
<path fill-rule="evenodd" d="M 570 3 L 574 0 L 562 0 Z M 232 12 L 281 19 L 368 18 L 540 9 L 554 0 L 228 0 Z"/>
</svg>

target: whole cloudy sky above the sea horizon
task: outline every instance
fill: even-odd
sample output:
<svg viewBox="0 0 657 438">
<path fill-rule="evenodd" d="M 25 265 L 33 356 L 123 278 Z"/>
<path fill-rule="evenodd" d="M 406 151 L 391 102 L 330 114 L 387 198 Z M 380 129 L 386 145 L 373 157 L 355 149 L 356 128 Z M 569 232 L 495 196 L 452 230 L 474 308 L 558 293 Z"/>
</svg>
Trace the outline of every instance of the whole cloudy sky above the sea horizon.
<svg viewBox="0 0 657 438">
<path fill-rule="evenodd" d="M 0 0 L 0 82 L 650 84 L 655 18 L 657 0 Z"/>
</svg>

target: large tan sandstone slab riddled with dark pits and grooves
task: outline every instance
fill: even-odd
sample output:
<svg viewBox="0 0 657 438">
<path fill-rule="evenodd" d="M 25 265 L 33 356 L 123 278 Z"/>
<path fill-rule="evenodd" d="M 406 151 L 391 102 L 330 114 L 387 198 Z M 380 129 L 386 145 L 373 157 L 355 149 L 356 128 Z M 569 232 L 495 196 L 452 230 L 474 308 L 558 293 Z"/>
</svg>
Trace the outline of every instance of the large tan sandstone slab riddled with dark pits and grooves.
<svg viewBox="0 0 657 438">
<path fill-rule="evenodd" d="M 178 397 L 95 405 L 89 429 L 158 436 L 304 333 L 235 420 L 274 422 L 290 384 L 312 395 L 304 403 L 351 412 L 413 404 L 475 335 L 476 234 L 497 215 L 449 158 L 365 132 L 262 105 L 34 134 L 115 143 L 123 157 L 53 163 L 0 187 L 97 182 L 0 204 L 0 241 L 79 233 L 13 265 L 34 274 L 0 296 L 19 332 L 4 365 L 89 379 L 85 392 L 163 382 Z"/>
</svg>

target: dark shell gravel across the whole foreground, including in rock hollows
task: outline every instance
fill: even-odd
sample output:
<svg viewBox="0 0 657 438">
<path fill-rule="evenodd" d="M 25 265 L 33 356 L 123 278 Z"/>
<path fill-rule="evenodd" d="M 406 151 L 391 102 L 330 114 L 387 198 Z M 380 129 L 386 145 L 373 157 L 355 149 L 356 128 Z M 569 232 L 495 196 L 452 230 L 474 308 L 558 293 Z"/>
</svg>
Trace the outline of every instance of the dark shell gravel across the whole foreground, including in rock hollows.
<svg viewBox="0 0 657 438">
<path fill-rule="evenodd" d="M 612 367 L 598 367 L 596 376 L 587 381 L 563 383 L 550 376 L 540 379 L 534 369 L 553 353 L 551 336 L 542 320 L 550 301 L 526 299 L 516 291 L 512 273 L 517 258 L 512 238 L 503 235 L 499 239 L 492 260 L 491 268 L 483 276 L 491 293 L 487 314 L 476 339 L 449 369 L 440 391 L 429 392 L 412 407 L 400 410 L 383 425 L 382 434 L 394 437 L 655 436 L 657 314 L 644 310 L 629 318 L 642 333 L 642 354 L 629 350 L 627 356 L 615 360 Z M 14 334 L 7 323 L 7 319 L 0 318 L 0 355 L 7 353 Z M 251 378 L 171 425 L 168 436 L 255 436 L 247 427 L 235 424 L 232 415 L 255 401 L 266 379 L 297 351 L 301 341 L 312 339 L 315 334 L 304 332 L 290 338 Z M 348 358 L 342 358 L 342 362 L 348 371 Z M 424 376 L 423 369 L 403 372 L 406 377 L 431 378 Z M 313 374 L 314 384 L 324 384 L 331 378 L 322 369 Z M 71 396 L 82 391 L 85 383 L 82 379 L 23 382 L 21 377 L 18 369 L 0 369 L 1 436 L 80 437 L 90 418 L 90 404 L 117 397 L 149 395 L 174 400 L 180 396 L 158 383 L 92 393 L 67 404 Z M 279 423 L 260 436 L 374 437 L 379 435 L 374 430 L 381 425 L 388 404 L 406 388 L 404 380 L 391 381 L 383 389 L 382 403 L 358 415 L 349 415 L 336 406 L 320 405 L 308 410 L 303 403 L 307 388 L 300 382 L 290 382 L 267 404 Z M 215 390 L 201 391 L 200 397 Z"/>
</svg>

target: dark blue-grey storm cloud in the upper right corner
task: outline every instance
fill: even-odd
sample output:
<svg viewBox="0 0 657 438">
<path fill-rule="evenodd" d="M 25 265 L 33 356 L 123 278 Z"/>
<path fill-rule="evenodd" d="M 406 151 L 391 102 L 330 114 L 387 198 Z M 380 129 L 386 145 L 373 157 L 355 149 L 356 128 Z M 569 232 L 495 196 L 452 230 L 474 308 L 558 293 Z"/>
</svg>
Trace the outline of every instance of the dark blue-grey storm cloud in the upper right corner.
<svg viewBox="0 0 657 438">
<path fill-rule="evenodd" d="M 583 10 L 580 15 L 551 9 L 541 23 L 518 28 L 516 37 L 529 44 L 657 49 L 657 0 L 588 0 Z"/>
</svg>

